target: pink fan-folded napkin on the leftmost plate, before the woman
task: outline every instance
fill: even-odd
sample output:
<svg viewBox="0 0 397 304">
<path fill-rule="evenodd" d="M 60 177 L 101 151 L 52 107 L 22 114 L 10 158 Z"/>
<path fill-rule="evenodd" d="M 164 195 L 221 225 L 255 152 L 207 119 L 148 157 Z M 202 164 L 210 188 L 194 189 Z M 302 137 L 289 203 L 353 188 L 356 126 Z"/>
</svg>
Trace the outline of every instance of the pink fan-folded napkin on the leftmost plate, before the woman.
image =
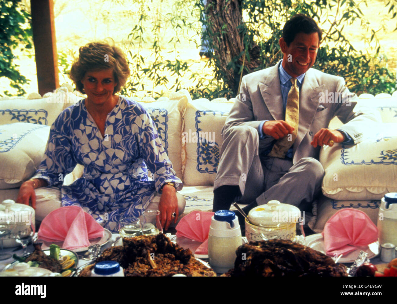
<svg viewBox="0 0 397 304">
<path fill-rule="evenodd" d="M 90 246 L 89 239 L 103 237 L 104 228 L 79 206 L 58 208 L 44 217 L 39 239 L 48 242 L 64 241 L 62 248 L 77 249 Z"/>
</svg>

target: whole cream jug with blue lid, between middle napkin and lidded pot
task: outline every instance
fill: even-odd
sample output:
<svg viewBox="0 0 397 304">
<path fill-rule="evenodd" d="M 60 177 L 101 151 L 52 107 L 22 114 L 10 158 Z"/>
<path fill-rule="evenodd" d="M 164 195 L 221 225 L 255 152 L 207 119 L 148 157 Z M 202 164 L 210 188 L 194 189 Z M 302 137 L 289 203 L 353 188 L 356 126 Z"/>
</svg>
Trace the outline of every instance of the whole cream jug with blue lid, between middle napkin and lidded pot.
<svg viewBox="0 0 397 304">
<path fill-rule="evenodd" d="M 220 210 L 211 219 L 208 233 L 208 258 L 217 273 L 234 267 L 236 249 L 243 244 L 239 220 L 233 211 Z"/>
</svg>

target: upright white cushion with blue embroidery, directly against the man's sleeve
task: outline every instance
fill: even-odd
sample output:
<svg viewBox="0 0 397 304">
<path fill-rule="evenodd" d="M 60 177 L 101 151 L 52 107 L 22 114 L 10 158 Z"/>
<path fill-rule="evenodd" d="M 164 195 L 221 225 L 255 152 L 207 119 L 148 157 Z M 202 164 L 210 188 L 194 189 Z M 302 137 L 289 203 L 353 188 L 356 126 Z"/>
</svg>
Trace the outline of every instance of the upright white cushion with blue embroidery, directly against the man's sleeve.
<svg viewBox="0 0 397 304">
<path fill-rule="evenodd" d="M 214 185 L 222 147 L 222 127 L 233 102 L 197 99 L 187 104 L 185 130 L 186 162 L 183 181 L 188 186 Z"/>
</svg>

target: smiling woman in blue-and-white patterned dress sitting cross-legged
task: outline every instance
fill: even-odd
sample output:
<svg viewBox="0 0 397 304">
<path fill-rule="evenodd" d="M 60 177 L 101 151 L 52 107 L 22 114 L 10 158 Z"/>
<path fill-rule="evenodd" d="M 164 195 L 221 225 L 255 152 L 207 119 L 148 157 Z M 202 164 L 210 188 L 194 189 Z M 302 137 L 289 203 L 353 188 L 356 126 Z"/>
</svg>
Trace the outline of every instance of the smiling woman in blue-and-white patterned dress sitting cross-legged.
<svg viewBox="0 0 397 304">
<path fill-rule="evenodd" d="M 83 176 L 61 188 L 62 206 L 83 207 L 113 232 L 121 216 L 139 216 L 148 208 L 160 210 L 166 230 L 176 223 L 185 207 L 183 196 L 175 193 L 182 183 L 150 115 L 133 100 L 116 95 L 128 76 L 128 63 L 119 48 L 102 42 L 80 48 L 70 77 L 87 98 L 58 116 L 45 158 L 33 178 L 21 185 L 17 202 L 31 201 L 36 208 L 35 189 L 61 187 L 63 177 L 82 164 Z M 160 196 L 158 206 L 155 196 Z M 42 208 L 48 214 L 59 206 Z"/>
</svg>

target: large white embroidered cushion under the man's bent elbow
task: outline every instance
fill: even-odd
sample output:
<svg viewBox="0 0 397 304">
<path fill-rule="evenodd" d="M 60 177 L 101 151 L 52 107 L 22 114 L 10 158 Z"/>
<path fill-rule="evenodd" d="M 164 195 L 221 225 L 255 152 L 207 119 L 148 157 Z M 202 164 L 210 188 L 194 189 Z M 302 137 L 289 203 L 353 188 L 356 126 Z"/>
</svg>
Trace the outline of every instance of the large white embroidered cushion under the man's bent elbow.
<svg viewBox="0 0 397 304">
<path fill-rule="evenodd" d="M 370 138 L 353 146 L 324 146 L 322 192 L 335 200 L 380 200 L 397 192 L 397 123 L 382 123 Z"/>
</svg>

